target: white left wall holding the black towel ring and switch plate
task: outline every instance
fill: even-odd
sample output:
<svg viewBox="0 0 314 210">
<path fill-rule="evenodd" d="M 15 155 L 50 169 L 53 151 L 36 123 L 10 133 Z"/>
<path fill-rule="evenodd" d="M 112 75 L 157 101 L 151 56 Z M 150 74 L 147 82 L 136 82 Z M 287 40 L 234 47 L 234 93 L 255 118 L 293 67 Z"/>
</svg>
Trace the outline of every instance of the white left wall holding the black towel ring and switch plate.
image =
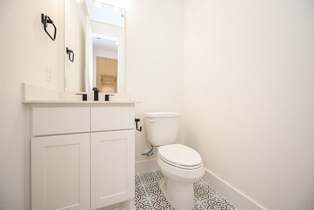
<svg viewBox="0 0 314 210">
<path fill-rule="evenodd" d="M 25 209 L 25 111 L 22 82 L 64 90 L 64 1 L 14 0 L 0 6 L 0 209 Z M 57 27 L 52 41 L 41 13 Z M 52 82 L 46 80 L 46 66 Z M 61 82 L 58 82 L 61 81 Z"/>
</svg>

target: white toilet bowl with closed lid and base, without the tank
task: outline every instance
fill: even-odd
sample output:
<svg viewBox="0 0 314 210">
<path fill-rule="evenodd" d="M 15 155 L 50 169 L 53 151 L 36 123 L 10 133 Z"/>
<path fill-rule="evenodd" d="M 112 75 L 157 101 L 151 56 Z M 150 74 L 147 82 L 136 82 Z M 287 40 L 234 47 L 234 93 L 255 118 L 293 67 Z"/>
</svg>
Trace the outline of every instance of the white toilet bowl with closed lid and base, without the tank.
<svg viewBox="0 0 314 210">
<path fill-rule="evenodd" d="M 170 205 L 176 210 L 192 210 L 193 184 L 205 173 L 201 156 L 184 145 L 165 145 L 158 148 L 157 164 L 164 175 L 160 190 Z"/>
</svg>

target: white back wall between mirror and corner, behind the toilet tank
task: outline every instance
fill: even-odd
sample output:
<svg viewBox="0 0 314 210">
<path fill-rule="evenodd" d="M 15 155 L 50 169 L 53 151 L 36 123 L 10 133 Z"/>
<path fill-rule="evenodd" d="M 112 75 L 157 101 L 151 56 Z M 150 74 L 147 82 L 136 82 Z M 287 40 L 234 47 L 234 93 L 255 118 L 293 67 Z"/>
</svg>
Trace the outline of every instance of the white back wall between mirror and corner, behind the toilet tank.
<svg viewBox="0 0 314 210">
<path fill-rule="evenodd" d="M 145 112 L 183 111 L 183 1 L 132 0 L 126 11 L 126 93 L 140 101 L 135 161 L 150 149 Z M 156 152 L 157 154 L 157 152 Z"/>
</svg>

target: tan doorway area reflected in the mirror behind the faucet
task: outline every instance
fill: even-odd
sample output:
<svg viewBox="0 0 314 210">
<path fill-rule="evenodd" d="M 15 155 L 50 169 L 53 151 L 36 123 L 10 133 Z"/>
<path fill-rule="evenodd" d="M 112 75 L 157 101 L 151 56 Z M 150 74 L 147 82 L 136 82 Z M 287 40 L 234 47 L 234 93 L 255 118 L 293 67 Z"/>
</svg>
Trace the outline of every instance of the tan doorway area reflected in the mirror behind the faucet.
<svg viewBox="0 0 314 210">
<path fill-rule="evenodd" d="M 100 92 L 117 92 L 118 60 L 96 58 L 96 85 Z"/>
</svg>

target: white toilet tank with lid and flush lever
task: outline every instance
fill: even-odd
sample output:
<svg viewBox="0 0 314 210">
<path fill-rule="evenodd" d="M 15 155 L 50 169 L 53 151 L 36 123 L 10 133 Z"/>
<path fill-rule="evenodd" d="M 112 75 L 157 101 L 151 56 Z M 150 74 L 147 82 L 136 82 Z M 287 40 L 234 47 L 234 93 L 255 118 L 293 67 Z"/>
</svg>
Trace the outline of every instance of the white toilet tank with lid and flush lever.
<svg viewBox="0 0 314 210">
<path fill-rule="evenodd" d="M 151 145 L 162 146 L 176 142 L 180 115 L 177 112 L 144 113 L 147 139 Z"/>
</svg>

